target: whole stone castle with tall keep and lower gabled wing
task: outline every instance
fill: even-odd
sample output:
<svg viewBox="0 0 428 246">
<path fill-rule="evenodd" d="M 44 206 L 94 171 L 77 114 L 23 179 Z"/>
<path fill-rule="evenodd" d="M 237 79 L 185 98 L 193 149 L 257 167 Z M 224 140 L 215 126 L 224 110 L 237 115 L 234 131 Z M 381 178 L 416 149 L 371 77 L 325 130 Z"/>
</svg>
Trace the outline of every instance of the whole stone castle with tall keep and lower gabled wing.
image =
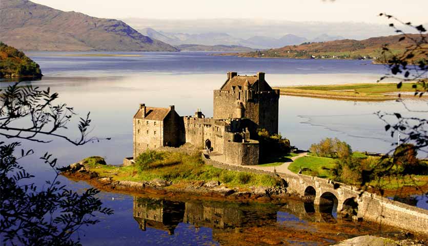
<svg viewBox="0 0 428 246">
<path fill-rule="evenodd" d="M 205 118 L 199 109 L 194 116 L 181 117 L 174 106 L 140 104 L 133 119 L 133 158 L 147 149 L 190 143 L 223 154 L 226 163 L 257 165 L 257 129 L 278 133 L 278 101 L 279 90 L 264 80 L 264 73 L 228 72 L 226 82 L 214 91 L 213 118 Z"/>
</svg>

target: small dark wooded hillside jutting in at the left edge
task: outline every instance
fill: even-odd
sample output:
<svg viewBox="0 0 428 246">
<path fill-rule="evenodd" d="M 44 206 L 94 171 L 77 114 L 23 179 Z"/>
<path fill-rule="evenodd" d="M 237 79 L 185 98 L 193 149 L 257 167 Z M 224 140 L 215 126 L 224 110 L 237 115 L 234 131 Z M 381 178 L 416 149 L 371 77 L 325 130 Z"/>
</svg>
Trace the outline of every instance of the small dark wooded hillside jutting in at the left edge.
<svg viewBox="0 0 428 246">
<path fill-rule="evenodd" d="M 23 52 L 0 42 L 0 78 L 3 77 L 42 77 L 37 63 Z"/>
</svg>

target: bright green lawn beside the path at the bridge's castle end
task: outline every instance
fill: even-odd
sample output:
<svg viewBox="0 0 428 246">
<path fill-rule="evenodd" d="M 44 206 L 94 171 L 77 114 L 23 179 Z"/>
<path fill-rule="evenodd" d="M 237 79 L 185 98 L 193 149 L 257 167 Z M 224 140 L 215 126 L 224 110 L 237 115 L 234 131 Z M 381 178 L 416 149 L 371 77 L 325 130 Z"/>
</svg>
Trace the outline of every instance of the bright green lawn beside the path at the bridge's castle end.
<svg viewBox="0 0 428 246">
<path fill-rule="evenodd" d="M 290 164 L 288 169 L 292 172 L 299 172 L 300 168 L 309 168 L 311 171 L 303 171 L 303 174 L 333 178 L 330 170 L 335 166 L 336 161 L 333 158 L 318 156 L 303 156 Z"/>
</svg>

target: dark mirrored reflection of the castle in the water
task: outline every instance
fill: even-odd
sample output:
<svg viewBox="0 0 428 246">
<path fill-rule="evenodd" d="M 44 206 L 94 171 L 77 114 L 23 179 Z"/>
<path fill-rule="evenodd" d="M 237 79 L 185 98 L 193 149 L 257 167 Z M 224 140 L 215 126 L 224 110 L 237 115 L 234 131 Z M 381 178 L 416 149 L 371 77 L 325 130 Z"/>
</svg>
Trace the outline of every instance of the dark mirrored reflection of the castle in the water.
<svg viewBox="0 0 428 246">
<path fill-rule="evenodd" d="M 238 203 L 174 202 L 165 199 L 134 197 L 133 216 L 143 231 L 147 227 L 174 234 L 178 223 L 188 223 L 198 231 L 200 227 L 217 231 L 276 223 L 277 207 L 258 208 Z"/>
</svg>

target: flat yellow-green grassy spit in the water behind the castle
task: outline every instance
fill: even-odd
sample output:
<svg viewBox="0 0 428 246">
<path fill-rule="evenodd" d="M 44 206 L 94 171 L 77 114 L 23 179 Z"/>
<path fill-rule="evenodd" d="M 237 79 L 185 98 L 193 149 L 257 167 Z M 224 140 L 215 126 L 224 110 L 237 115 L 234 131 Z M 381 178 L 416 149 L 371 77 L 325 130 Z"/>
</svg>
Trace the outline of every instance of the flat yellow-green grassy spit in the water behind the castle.
<svg viewBox="0 0 428 246">
<path fill-rule="evenodd" d="M 397 88 L 395 83 L 364 83 L 276 87 L 281 95 L 316 97 L 336 100 L 386 101 L 398 98 L 402 92 L 415 92 L 415 83 L 403 83 Z M 413 97 L 413 95 L 401 95 Z M 426 96 L 422 98 L 426 99 Z"/>
</svg>

